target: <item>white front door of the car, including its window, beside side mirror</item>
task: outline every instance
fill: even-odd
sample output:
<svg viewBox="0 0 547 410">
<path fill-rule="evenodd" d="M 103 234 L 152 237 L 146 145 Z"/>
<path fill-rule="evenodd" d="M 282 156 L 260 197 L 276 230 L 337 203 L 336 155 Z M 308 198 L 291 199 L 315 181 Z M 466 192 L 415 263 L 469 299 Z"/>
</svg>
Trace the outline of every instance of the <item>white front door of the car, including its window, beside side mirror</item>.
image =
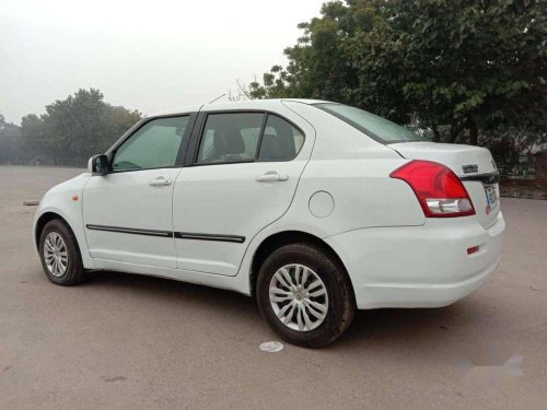
<svg viewBox="0 0 547 410">
<path fill-rule="evenodd" d="M 90 178 L 83 219 L 91 257 L 177 267 L 172 199 L 189 124 L 190 116 L 146 121 L 114 150 L 110 172 Z"/>
</svg>

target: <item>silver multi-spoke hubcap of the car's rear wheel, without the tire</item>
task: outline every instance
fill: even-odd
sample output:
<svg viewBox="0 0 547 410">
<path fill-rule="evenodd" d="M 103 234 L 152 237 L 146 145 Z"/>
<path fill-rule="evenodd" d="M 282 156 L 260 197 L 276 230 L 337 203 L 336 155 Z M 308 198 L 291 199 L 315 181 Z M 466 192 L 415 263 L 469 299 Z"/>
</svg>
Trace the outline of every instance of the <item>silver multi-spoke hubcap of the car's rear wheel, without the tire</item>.
<svg viewBox="0 0 547 410">
<path fill-rule="evenodd" d="M 271 278 L 269 297 L 274 313 L 292 330 L 316 329 L 327 317 L 327 288 L 317 273 L 303 265 L 280 268 Z"/>
</svg>

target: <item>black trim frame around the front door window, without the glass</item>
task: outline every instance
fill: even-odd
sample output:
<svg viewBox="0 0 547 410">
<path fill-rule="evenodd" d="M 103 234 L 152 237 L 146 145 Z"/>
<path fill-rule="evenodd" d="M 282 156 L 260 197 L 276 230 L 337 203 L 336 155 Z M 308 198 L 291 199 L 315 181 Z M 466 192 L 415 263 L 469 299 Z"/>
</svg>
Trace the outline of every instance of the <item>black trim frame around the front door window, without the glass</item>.
<svg viewBox="0 0 547 410">
<path fill-rule="evenodd" d="M 184 166 L 184 157 L 186 154 L 186 151 L 188 149 L 188 145 L 191 140 L 191 134 L 194 131 L 194 127 L 196 125 L 196 119 L 198 117 L 198 112 L 190 112 L 190 113 L 177 113 L 177 114 L 165 114 L 165 115 L 158 115 L 158 116 L 152 116 L 152 117 L 146 117 L 142 118 L 140 121 L 135 124 L 131 128 L 129 128 L 107 151 L 106 151 L 106 156 L 108 157 L 108 174 L 124 174 L 124 173 L 135 173 L 135 172 L 140 172 L 140 171 L 151 171 L 151 169 L 170 169 L 170 168 L 181 168 Z M 184 130 L 183 134 L 183 142 L 181 147 L 178 148 L 178 153 L 175 159 L 175 165 L 172 166 L 156 166 L 152 168 L 142 168 L 142 169 L 119 169 L 115 171 L 113 169 L 114 165 L 114 157 L 116 156 L 116 152 L 118 149 L 126 143 L 127 140 L 129 140 L 135 133 L 137 133 L 142 127 L 144 127 L 147 124 L 154 121 L 156 119 L 162 119 L 162 118 L 179 118 L 179 117 L 188 117 L 188 124 L 186 125 L 186 129 Z M 185 138 L 186 137 L 186 138 Z"/>
</svg>

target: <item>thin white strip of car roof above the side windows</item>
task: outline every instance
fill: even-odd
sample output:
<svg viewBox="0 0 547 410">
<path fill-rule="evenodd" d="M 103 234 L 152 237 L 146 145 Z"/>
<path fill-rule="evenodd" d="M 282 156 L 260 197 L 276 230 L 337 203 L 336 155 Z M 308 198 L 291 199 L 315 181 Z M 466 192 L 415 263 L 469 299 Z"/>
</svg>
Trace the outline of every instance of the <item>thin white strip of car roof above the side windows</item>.
<svg viewBox="0 0 547 410">
<path fill-rule="evenodd" d="M 225 109 L 275 109 L 276 106 L 282 104 L 282 102 L 293 102 L 301 104 L 321 104 L 321 103 L 329 103 L 328 101 L 323 99 L 309 99 L 309 98 L 270 98 L 270 99 L 248 99 L 248 101 L 223 101 L 210 104 L 200 104 L 200 105 L 189 105 L 184 107 L 174 107 L 163 109 L 146 117 L 156 117 L 156 116 L 165 116 L 165 115 L 175 115 L 175 114 L 184 114 L 184 113 L 195 113 L 199 110 L 203 112 L 214 112 L 214 110 L 225 110 Z"/>
</svg>

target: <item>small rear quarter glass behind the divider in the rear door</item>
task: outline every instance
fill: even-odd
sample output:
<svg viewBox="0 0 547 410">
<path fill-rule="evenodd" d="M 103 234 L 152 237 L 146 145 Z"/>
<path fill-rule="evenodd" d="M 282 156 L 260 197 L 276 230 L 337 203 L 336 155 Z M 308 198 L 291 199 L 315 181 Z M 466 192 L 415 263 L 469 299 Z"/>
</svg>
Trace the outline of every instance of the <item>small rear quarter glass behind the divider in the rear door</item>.
<svg viewBox="0 0 547 410">
<path fill-rule="evenodd" d="M 291 161 L 304 144 L 304 134 L 289 121 L 269 114 L 258 161 Z"/>
</svg>

